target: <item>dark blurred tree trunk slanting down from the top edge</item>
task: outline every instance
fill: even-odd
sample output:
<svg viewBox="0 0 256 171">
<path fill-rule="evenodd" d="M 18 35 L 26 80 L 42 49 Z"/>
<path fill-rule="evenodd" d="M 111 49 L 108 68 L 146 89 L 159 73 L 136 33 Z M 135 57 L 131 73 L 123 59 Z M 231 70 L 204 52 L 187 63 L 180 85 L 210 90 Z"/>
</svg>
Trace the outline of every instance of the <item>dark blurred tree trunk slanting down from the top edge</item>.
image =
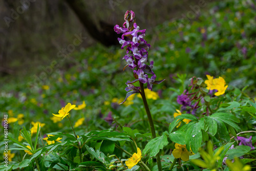
<svg viewBox="0 0 256 171">
<path fill-rule="evenodd" d="M 92 20 L 92 14 L 87 11 L 86 4 L 83 0 L 66 0 L 68 5 L 76 13 L 80 22 L 87 29 L 88 33 L 104 46 L 118 45 L 118 35 L 114 32 L 114 26 L 100 21 L 99 30 Z"/>
</svg>

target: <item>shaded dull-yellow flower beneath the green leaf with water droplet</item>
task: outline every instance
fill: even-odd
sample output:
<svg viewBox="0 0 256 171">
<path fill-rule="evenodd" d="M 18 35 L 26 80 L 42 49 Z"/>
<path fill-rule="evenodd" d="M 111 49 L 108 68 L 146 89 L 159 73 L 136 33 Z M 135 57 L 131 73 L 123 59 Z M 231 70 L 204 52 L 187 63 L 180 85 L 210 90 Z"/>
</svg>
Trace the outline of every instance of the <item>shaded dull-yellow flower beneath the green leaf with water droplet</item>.
<svg viewBox="0 0 256 171">
<path fill-rule="evenodd" d="M 190 149 L 191 151 L 191 149 Z M 173 155 L 176 159 L 181 158 L 183 161 L 188 161 L 189 156 L 195 155 L 193 152 L 188 152 L 186 145 L 181 145 L 178 143 L 175 143 L 175 149 L 173 151 Z"/>
</svg>

